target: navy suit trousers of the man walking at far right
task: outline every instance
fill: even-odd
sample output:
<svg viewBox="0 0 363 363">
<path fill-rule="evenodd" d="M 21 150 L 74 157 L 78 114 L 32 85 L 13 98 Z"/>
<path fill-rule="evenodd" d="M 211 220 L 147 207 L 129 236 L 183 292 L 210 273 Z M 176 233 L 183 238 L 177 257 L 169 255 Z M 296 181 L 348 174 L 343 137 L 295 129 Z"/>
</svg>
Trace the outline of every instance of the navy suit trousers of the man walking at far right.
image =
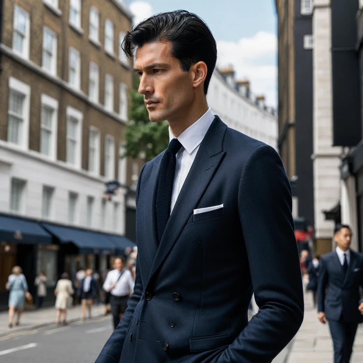
<svg viewBox="0 0 363 363">
<path fill-rule="evenodd" d="M 334 363 L 349 363 L 358 322 L 344 321 L 343 317 L 339 321 L 328 321 L 334 345 Z"/>
</svg>

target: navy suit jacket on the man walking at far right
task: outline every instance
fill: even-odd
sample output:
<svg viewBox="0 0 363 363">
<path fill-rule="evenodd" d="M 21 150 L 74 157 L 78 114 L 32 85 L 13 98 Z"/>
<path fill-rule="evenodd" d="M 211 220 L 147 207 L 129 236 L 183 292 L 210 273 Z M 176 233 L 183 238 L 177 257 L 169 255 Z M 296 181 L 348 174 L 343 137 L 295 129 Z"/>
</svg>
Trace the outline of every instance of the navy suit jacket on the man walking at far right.
<svg viewBox="0 0 363 363">
<path fill-rule="evenodd" d="M 338 321 L 363 322 L 358 306 L 359 286 L 363 287 L 363 253 L 350 250 L 347 273 L 343 271 L 337 252 L 322 256 L 319 265 L 318 310 L 324 311 L 326 318 Z M 327 288 L 327 293 L 326 293 Z"/>
</svg>

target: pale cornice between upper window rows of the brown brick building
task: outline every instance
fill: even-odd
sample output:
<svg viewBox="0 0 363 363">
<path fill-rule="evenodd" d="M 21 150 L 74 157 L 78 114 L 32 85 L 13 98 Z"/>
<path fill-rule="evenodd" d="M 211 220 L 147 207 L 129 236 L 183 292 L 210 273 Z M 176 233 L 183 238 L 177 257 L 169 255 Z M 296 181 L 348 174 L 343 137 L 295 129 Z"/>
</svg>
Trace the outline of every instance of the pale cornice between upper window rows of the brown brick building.
<svg viewBox="0 0 363 363">
<path fill-rule="evenodd" d="M 0 43 L 0 52 L 8 56 L 9 58 L 15 60 L 16 62 L 20 63 L 21 65 L 25 66 L 26 68 L 32 70 L 33 72 L 39 74 L 40 76 L 48 79 L 49 81 L 52 81 L 57 86 L 62 87 L 63 89 L 67 90 L 69 93 L 72 93 L 74 96 L 78 97 L 82 101 L 88 103 L 90 106 L 94 107 L 96 110 L 102 112 L 103 114 L 113 118 L 114 120 L 126 124 L 127 121 L 122 119 L 119 114 L 115 112 L 111 112 L 106 110 L 100 103 L 96 103 L 94 101 L 91 101 L 87 94 L 84 93 L 81 90 L 73 88 L 68 82 L 66 82 L 64 79 L 62 79 L 59 76 L 53 76 L 52 74 L 46 72 L 44 69 L 42 69 L 40 66 L 35 64 L 34 62 L 24 59 L 17 54 L 15 54 L 11 48 L 9 48 L 7 45 Z"/>
</svg>

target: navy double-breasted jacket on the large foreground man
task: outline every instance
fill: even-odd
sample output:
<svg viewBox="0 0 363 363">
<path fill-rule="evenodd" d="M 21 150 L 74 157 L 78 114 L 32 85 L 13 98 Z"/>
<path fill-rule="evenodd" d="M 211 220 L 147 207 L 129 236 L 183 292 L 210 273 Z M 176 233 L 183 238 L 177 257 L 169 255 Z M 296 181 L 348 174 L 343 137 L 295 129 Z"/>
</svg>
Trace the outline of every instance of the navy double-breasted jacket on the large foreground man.
<svg viewBox="0 0 363 363">
<path fill-rule="evenodd" d="M 96 362 L 270 362 L 303 319 L 291 189 L 280 157 L 216 116 L 158 245 L 162 156 L 140 172 L 134 293 Z M 248 322 L 252 292 L 260 310 Z"/>
</svg>

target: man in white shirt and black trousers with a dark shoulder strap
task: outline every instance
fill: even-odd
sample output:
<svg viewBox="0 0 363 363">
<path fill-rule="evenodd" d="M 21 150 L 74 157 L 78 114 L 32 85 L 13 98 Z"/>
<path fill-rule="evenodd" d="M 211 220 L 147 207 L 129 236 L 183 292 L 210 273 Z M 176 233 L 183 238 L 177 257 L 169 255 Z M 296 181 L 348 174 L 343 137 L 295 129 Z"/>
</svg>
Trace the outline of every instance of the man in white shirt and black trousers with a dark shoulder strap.
<svg viewBox="0 0 363 363">
<path fill-rule="evenodd" d="M 103 284 L 103 290 L 110 293 L 111 313 L 116 329 L 127 307 L 127 301 L 134 289 L 134 279 L 130 270 L 125 268 L 123 257 L 114 260 L 114 270 L 109 271 Z"/>
</svg>

